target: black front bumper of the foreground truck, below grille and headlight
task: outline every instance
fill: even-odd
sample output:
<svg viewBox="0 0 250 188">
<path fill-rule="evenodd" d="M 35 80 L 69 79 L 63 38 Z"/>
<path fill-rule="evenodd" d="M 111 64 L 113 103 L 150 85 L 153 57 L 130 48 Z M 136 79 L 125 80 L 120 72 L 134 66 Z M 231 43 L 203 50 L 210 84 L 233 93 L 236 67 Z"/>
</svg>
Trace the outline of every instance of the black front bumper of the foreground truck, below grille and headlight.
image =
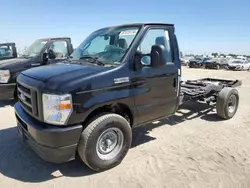
<svg viewBox="0 0 250 188">
<path fill-rule="evenodd" d="M 63 163 L 75 159 L 82 125 L 56 127 L 37 121 L 16 103 L 15 114 L 19 135 L 43 160 Z"/>
</svg>

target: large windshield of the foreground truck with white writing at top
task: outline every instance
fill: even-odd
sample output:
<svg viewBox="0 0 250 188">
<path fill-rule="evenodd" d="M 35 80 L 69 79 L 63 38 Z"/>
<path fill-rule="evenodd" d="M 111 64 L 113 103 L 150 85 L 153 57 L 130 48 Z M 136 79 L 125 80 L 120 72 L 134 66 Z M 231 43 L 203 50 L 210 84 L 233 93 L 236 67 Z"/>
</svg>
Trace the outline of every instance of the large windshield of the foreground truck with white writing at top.
<svg viewBox="0 0 250 188">
<path fill-rule="evenodd" d="M 120 64 L 139 27 L 112 27 L 98 30 L 87 37 L 71 54 L 73 60 L 95 58 L 104 64 Z"/>
</svg>

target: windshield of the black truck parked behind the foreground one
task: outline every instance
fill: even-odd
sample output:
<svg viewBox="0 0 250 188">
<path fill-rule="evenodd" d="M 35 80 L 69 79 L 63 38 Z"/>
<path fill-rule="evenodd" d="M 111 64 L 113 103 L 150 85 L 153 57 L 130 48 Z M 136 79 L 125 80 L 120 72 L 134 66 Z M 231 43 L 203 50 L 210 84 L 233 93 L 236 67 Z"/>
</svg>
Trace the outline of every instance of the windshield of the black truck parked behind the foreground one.
<svg viewBox="0 0 250 188">
<path fill-rule="evenodd" d="M 23 54 L 26 57 L 35 57 L 40 54 L 41 50 L 47 44 L 47 41 L 37 40 L 35 41 Z"/>
</svg>

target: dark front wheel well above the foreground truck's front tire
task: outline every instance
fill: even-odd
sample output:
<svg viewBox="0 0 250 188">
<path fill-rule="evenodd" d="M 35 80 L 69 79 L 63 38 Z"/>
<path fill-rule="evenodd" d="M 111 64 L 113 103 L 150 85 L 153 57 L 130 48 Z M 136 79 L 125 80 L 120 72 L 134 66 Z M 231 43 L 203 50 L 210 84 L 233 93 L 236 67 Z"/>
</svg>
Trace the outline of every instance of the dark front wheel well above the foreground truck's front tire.
<svg viewBox="0 0 250 188">
<path fill-rule="evenodd" d="M 125 104 L 115 104 L 115 105 L 105 105 L 102 107 L 97 108 L 96 110 L 94 110 L 93 112 L 91 112 L 87 118 L 85 119 L 85 121 L 83 122 L 83 125 L 87 125 L 88 122 L 94 117 L 97 116 L 101 113 L 116 113 L 121 115 L 122 117 L 124 117 L 125 119 L 127 119 L 127 121 L 129 122 L 130 126 L 132 127 L 133 125 L 133 115 L 131 113 L 131 110 L 129 109 L 129 107 Z"/>
</svg>

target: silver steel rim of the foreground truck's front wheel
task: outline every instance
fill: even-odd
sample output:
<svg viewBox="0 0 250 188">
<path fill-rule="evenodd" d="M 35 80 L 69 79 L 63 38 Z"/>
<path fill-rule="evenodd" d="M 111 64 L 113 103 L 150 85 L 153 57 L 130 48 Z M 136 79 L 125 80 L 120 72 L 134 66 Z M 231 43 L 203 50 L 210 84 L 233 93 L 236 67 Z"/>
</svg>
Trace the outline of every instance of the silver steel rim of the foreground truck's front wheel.
<svg viewBox="0 0 250 188">
<path fill-rule="evenodd" d="M 122 131 L 118 128 L 109 128 L 99 136 L 96 144 L 96 153 L 102 160 L 111 160 L 120 153 L 123 143 L 124 136 Z"/>
</svg>

